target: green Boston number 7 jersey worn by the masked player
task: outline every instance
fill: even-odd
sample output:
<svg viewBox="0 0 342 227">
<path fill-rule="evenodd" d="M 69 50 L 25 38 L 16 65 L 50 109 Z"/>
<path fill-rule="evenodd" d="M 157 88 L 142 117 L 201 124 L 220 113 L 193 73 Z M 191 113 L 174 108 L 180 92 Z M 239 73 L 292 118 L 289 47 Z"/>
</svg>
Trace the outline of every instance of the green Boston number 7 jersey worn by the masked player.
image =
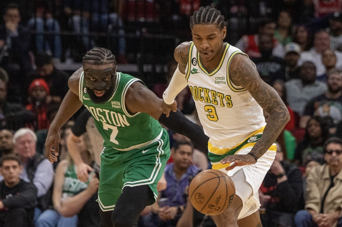
<svg viewBox="0 0 342 227">
<path fill-rule="evenodd" d="M 125 96 L 129 86 L 141 80 L 119 72 L 116 75 L 113 95 L 107 102 L 98 104 L 90 99 L 82 73 L 79 83 L 80 100 L 92 114 L 105 146 L 122 151 L 145 147 L 159 139 L 161 125 L 146 113 L 131 114 L 126 109 Z"/>
</svg>

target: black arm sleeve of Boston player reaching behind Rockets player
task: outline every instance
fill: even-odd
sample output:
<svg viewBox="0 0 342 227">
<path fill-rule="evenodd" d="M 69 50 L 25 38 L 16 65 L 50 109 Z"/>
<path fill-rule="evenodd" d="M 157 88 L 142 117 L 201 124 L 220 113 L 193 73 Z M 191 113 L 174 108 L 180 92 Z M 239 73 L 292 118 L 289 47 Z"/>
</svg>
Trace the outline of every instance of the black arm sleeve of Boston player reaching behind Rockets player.
<svg viewBox="0 0 342 227">
<path fill-rule="evenodd" d="M 204 134 L 202 127 L 186 118 L 181 111 L 170 111 L 169 117 L 161 114 L 159 122 L 175 133 L 182 134 L 189 138 L 201 151 L 208 154 L 209 137 Z"/>
</svg>

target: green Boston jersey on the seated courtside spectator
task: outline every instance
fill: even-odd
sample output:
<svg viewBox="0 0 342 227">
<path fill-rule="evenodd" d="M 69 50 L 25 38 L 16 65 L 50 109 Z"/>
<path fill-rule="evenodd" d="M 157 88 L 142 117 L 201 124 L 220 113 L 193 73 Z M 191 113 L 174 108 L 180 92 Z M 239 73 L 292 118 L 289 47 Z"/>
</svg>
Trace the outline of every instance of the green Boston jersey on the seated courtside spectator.
<svg viewBox="0 0 342 227">
<path fill-rule="evenodd" d="M 86 189 L 89 182 L 83 182 L 77 179 L 75 164 L 68 165 L 64 172 L 64 182 L 62 188 L 62 199 L 74 196 L 80 190 Z"/>
</svg>

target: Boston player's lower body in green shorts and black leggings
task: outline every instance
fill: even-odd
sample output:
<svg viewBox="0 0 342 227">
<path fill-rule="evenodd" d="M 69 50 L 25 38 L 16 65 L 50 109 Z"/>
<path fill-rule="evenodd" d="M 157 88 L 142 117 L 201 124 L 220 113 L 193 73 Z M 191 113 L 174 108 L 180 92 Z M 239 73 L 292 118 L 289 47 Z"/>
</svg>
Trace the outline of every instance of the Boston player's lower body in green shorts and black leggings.
<svg viewBox="0 0 342 227">
<path fill-rule="evenodd" d="M 156 202 L 157 183 L 170 157 L 168 134 L 163 130 L 156 142 L 130 151 L 104 155 L 106 149 L 101 155 L 98 190 L 101 227 L 136 225 L 144 208 Z"/>
</svg>

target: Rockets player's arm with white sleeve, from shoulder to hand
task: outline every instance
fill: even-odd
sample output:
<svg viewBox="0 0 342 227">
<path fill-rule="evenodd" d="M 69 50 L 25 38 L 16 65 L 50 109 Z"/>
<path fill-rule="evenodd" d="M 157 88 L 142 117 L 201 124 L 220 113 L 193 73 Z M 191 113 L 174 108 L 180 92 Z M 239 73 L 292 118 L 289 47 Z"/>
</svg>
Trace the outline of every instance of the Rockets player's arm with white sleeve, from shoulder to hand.
<svg viewBox="0 0 342 227">
<path fill-rule="evenodd" d="M 178 66 L 173 73 L 169 86 L 163 93 L 163 103 L 161 106 L 163 113 L 167 117 L 170 111 L 177 111 L 177 103 L 174 99 L 188 85 L 185 78 L 185 68 L 188 62 L 190 44 L 191 42 L 183 42 L 174 50 L 174 58 L 178 62 Z"/>
</svg>

